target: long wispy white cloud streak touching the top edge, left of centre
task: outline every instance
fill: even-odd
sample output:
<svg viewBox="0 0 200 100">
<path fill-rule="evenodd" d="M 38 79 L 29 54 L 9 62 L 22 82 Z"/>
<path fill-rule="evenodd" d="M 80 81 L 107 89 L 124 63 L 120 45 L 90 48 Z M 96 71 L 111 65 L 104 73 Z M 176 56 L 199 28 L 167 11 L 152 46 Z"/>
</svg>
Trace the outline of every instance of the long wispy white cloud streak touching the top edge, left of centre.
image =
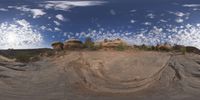
<svg viewBox="0 0 200 100">
<path fill-rule="evenodd" d="M 68 11 L 73 7 L 85 7 L 102 5 L 105 1 L 45 1 L 40 6 L 46 9 L 64 10 Z"/>
</svg>

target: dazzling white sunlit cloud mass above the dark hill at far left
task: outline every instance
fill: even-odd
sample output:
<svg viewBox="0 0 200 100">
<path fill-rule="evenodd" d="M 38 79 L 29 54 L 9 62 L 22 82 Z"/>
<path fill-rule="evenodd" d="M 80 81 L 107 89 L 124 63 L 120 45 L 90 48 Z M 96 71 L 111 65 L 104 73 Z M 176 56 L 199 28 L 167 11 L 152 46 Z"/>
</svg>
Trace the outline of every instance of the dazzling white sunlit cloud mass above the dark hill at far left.
<svg viewBox="0 0 200 100">
<path fill-rule="evenodd" d="M 0 24 L 0 48 L 38 48 L 43 45 L 42 35 L 26 20 Z"/>
</svg>

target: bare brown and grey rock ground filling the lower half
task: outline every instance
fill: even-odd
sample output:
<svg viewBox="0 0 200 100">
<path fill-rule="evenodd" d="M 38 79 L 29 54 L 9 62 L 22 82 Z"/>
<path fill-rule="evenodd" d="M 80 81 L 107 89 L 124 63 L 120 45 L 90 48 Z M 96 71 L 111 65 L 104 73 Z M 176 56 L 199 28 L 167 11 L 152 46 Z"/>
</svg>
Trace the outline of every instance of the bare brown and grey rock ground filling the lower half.
<svg viewBox="0 0 200 100">
<path fill-rule="evenodd" d="M 200 56 L 147 51 L 69 51 L 0 60 L 0 100 L 199 100 Z"/>
</svg>

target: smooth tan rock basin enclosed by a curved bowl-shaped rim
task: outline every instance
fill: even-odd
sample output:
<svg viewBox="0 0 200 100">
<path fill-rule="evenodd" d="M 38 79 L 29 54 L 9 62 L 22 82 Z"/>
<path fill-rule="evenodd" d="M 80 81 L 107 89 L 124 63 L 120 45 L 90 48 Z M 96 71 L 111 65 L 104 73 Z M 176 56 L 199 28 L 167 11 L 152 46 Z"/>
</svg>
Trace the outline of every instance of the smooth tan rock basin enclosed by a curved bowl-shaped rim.
<svg viewBox="0 0 200 100">
<path fill-rule="evenodd" d="M 159 80 L 170 58 L 159 53 L 110 53 L 82 53 L 79 58 L 67 63 L 69 67 L 66 69 L 77 74 L 82 84 L 93 91 L 135 92 Z"/>
</svg>

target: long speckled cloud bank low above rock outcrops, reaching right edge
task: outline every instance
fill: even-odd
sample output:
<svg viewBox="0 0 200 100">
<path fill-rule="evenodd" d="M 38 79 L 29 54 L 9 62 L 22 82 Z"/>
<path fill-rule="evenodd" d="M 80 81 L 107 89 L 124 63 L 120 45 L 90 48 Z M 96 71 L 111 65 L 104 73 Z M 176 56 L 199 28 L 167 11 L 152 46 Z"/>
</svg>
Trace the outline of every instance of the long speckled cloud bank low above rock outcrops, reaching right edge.
<svg viewBox="0 0 200 100">
<path fill-rule="evenodd" d="M 131 35 L 134 34 L 134 35 Z M 167 27 L 153 26 L 153 28 L 142 28 L 136 32 L 127 32 L 119 30 L 91 30 L 84 36 L 91 36 L 95 41 L 101 41 L 105 38 L 115 39 L 121 38 L 131 45 L 156 45 L 156 44 L 178 44 L 186 46 L 194 46 L 200 49 L 200 24 L 186 24 L 181 26 L 167 25 Z M 71 38 L 74 35 L 68 34 Z"/>
</svg>

